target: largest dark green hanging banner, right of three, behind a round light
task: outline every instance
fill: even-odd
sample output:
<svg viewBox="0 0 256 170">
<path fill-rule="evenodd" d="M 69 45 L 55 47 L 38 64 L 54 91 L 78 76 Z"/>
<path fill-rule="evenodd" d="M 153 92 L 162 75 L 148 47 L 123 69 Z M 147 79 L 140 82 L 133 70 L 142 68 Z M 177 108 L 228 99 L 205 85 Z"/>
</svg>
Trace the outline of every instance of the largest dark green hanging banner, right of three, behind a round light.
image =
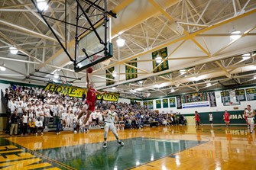
<svg viewBox="0 0 256 170">
<path fill-rule="evenodd" d="M 160 63 L 157 63 L 156 60 L 155 60 L 157 58 L 157 56 L 160 56 L 162 58 L 162 61 Z M 169 69 L 168 60 L 165 60 L 163 62 L 163 60 L 166 59 L 167 56 L 168 56 L 167 47 L 162 48 L 162 49 L 157 50 L 157 51 L 154 51 L 152 53 L 153 70 L 154 70 L 153 72 L 154 73 L 161 72 L 161 71 Z"/>
</svg>

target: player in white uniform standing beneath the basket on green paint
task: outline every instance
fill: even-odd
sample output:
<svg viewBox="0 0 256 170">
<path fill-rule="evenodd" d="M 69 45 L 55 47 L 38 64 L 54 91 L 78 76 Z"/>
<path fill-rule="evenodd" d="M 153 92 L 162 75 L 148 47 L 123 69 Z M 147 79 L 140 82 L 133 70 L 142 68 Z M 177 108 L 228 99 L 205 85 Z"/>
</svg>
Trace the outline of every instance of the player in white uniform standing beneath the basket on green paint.
<svg viewBox="0 0 256 170">
<path fill-rule="evenodd" d="M 114 125 L 115 119 L 118 120 L 118 114 L 115 112 L 115 108 L 116 108 L 115 104 L 111 104 L 110 110 L 107 110 L 102 114 L 102 116 L 105 117 L 104 143 L 103 143 L 104 149 L 107 147 L 107 136 L 108 136 L 109 130 L 111 130 L 112 133 L 115 135 L 115 138 L 116 140 L 118 140 L 118 143 L 121 146 L 124 146 L 124 143 L 121 140 L 119 140 L 118 133 L 116 132 L 115 125 Z"/>
</svg>

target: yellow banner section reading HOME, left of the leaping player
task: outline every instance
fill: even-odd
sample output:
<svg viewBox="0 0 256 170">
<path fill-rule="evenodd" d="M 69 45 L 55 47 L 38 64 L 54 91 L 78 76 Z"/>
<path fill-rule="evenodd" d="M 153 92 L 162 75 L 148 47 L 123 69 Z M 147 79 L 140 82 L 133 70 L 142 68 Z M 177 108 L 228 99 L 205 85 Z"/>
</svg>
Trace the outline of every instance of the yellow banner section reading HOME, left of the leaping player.
<svg viewBox="0 0 256 170">
<path fill-rule="evenodd" d="M 76 98 L 82 98 L 83 93 L 87 95 L 86 88 L 79 88 L 70 85 L 54 85 L 49 83 L 45 86 L 44 90 L 60 92 L 61 95 L 69 95 L 70 97 Z"/>
</svg>

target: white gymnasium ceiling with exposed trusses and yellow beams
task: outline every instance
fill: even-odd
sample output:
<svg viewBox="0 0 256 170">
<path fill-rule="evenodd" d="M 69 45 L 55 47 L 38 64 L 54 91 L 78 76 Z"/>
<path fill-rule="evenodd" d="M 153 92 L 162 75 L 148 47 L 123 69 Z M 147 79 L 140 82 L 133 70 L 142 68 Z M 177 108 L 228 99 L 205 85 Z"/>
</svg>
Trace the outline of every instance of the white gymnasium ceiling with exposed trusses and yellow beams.
<svg viewBox="0 0 256 170">
<path fill-rule="evenodd" d="M 64 4 L 64 0 L 52 0 L 45 12 L 63 20 Z M 75 1 L 67 4 L 69 21 L 76 7 Z M 108 10 L 117 14 L 112 18 L 114 56 L 108 65 L 93 66 L 90 79 L 99 90 L 144 98 L 149 94 L 160 97 L 256 82 L 254 0 L 109 0 Z M 81 22 L 87 24 L 86 19 Z M 63 24 L 53 20 L 49 23 L 64 40 Z M 184 28 L 182 34 L 173 29 L 175 23 Z M 72 47 L 71 33 L 75 30 L 66 29 L 68 45 Z M 230 37 L 233 30 L 241 31 L 235 40 Z M 117 47 L 118 34 L 125 39 L 125 47 Z M 9 47 L 17 47 L 18 54 L 11 54 Z M 169 69 L 154 73 L 151 53 L 164 47 L 168 50 Z M 245 53 L 250 53 L 246 59 L 241 56 Z M 138 61 L 138 78 L 125 80 L 125 66 L 131 59 Z M 35 72 L 39 69 L 81 78 L 61 81 L 86 86 L 85 71 L 73 71 L 70 59 L 29 0 L 0 0 L 0 65 L 3 64 L 6 70 L 0 71 L 1 79 L 38 85 L 54 79 Z M 106 88 L 105 70 L 112 66 L 118 75 L 115 84 Z"/>
</svg>

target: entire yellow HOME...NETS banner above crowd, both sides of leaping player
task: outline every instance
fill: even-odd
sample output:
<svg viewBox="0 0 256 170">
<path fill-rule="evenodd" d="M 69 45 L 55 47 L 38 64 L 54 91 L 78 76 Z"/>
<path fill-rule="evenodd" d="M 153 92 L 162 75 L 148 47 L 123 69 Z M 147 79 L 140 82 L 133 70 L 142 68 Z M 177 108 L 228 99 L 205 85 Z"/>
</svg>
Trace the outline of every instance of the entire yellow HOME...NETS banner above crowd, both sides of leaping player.
<svg viewBox="0 0 256 170">
<path fill-rule="evenodd" d="M 86 88 L 79 88 L 70 85 L 57 85 L 57 84 L 47 84 L 44 88 L 45 91 L 57 91 L 60 92 L 61 95 L 69 95 L 70 97 L 82 98 L 83 93 L 87 95 Z M 104 95 L 97 95 L 97 100 L 104 101 L 118 101 L 119 94 L 118 93 L 105 93 Z"/>
</svg>

